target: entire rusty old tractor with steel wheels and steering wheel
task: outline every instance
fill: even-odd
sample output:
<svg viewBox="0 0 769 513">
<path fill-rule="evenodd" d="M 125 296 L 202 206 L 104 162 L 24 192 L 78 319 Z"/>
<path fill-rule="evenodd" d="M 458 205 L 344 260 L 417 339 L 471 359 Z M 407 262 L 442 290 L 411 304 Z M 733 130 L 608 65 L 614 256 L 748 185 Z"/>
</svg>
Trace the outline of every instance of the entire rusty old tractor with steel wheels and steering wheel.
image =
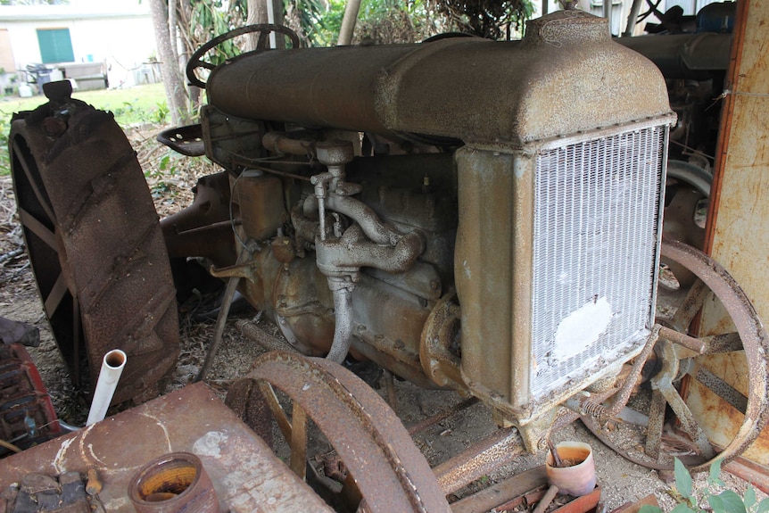
<svg viewBox="0 0 769 513">
<path fill-rule="evenodd" d="M 260 35 L 256 50 L 207 60 L 247 32 Z M 270 33 L 294 47 L 266 49 Z M 45 311 L 76 373 L 84 357 L 95 369 L 112 347 L 128 353 L 116 401 L 156 393 L 174 365 L 172 270 L 183 275 L 195 257 L 227 284 L 200 377 L 238 291 L 285 340 L 269 341 L 283 351 L 261 358 L 232 402 L 266 401 L 302 476 L 306 418 L 340 446 L 380 451 L 398 489 L 409 489 L 409 469 L 424 470 L 399 459 L 407 435 L 387 427 L 393 418 L 345 360 L 492 410 L 500 431 L 433 469 L 443 494 L 542 450 L 561 423 L 583 417 L 600 430 L 640 382 L 652 389 L 643 464 L 671 465 L 660 443 L 671 412 L 697 468 L 738 456 L 765 425 L 769 341 L 755 310 L 723 268 L 663 239 L 668 144 L 687 125 L 676 125 L 655 63 L 613 41 L 605 20 L 564 11 L 529 21 L 521 41 L 335 48 L 300 48 L 286 29 L 257 25 L 213 39 L 187 74 L 207 95 L 200 123 L 159 139 L 223 171 L 200 178 L 194 203 L 160 222 L 107 113 L 53 84 L 49 103 L 12 123 Z M 690 273 L 666 318 L 661 260 Z M 712 301 L 734 327 L 699 336 Z M 680 387 L 703 375 L 698 358 L 709 352 L 733 352 L 749 369 L 740 431 L 717 445 Z M 349 410 L 333 418 L 340 402 Z M 390 492 L 362 483 L 355 453 L 343 459 L 364 499 L 386 502 Z M 429 489 L 409 495 L 413 510 L 422 500 L 442 508 Z"/>
</svg>

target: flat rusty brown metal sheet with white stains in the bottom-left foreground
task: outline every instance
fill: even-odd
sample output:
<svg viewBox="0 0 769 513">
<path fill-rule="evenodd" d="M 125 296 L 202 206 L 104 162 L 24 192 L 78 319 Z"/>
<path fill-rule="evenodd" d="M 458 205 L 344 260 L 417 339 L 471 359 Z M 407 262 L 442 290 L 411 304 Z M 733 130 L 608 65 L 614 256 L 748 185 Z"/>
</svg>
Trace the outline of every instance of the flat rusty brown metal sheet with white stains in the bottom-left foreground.
<svg viewBox="0 0 769 513">
<path fill-rule="evenodd" d="M 203 461 L 221 511 L 332 511 L 203 384 L 4 459 L 0 490 L 30 472 L 86 474 L 95 467 L 105 509 L 133 513 L 129 479 L 159 455 L 175 451 Z"/>
</svg>

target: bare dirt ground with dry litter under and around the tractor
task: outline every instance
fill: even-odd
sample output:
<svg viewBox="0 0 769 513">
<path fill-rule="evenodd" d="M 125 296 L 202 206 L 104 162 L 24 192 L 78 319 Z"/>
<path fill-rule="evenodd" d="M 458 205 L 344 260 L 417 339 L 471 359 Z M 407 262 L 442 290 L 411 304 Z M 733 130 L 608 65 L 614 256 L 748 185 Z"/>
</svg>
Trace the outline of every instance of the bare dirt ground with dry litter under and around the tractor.
<svg viewBox="0 0 769 513">
<path fill-rule="evenodd" d="M 146 165 L 146 162 L 143 163 Z M 176 210 L 190 198 L 188 190 L 194 185 L 194 178 L 182 174 L 171 180 L 166 179 L 165 182 L 163 188 L 166 194 L 156 194 L 156 203 L 161 215 Z M 175 190 L 175 194 L 169 194 L 169 187 Z M 75 390 L 70 383 L 37 297 L 29 261 L 22 249 L 23 241 L 18 219 L 15 217 L 11 178 L 0 177 L 0 316 L 27 322 L 40 330 L 42 343 L 37 348 L 29 348 L 29 352 L 43 376 L 59 418 L 71 425 L 82 426 L 87 417 L 87 401 L 82 391 Z M 173 383 L 170 385 L 171 389 L 186 385 L 197 374 L 203 365 L 213 334 L 213 322 L 196 322 L 185 315 L 180 319 L 182 352 Z M 236 331 L 235 319 L 252 319 L 269 333 L 277 335 L 277 328 L 266 319 L 261 319 L 260 312 L 244 311 L 230 319 L 219 357 L 206 380 L 222 396 L 227 386 L 238 376 L 243 376 L 251 367 L 254 358 L 262 352 L 255 343 Z M 456 393 L 425 391 L 407 382 L 396 381 L 395 389 L 396 411 L 407 427 L 461 401 Z M 379 393 L 385 396 L 384 387 L 380 388 Z M 494 429 L 490 412 L 484 406 L 475 404 L 417 434 L 415 442 L 434 466 L 491 434 Z M 657 496 L 664 509 L 673 509 L 675 502 L 668 494 L 672 485 L 670 476 L 660 476 L 657 471 L 634 465 L 619 457 L 580 423 L 554 433 L 552 438 L 554 442 L 578 440 L 591 444 L 606 511 L 616 509 L 626 502 L 641 500 L 650 493 Z M 513 476 L 528 467 L 542 465 L 543 462 L 544 453 L 520 458 L 514 465 L 502 467 L 493 475 L 484 476 L 479 483 L 459 492 L 459 495 Z M 744 492 L 746 484 L 740 479 L 724 474 L 724 480 L 730 489 L 740 494 Z M 704 476 L 699 476 L 697 482 L 702 484 L 703 481 Z"/>
</svg>

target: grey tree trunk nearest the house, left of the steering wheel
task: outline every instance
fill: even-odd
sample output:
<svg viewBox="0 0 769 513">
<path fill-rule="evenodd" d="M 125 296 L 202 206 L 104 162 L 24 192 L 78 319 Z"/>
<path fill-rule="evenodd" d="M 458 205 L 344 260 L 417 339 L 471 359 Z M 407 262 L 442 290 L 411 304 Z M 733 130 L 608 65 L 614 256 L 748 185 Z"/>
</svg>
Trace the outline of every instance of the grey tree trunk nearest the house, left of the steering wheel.
<svg viewBox="0 0 769 513">
<path fill-rule="evenodd" d="M 171 120 L 174 125 L 186 125 L 190 122 L 189 109 L 184 82 L 179 73 L 178 62 L 174 59 L 169 31 L 169 11 L 165 0 L 150 0 L 155 29 L 155 43 L 158 46 L 158 57 L 161 61 L 163 87 L 169 103 Z"/>
</svg>

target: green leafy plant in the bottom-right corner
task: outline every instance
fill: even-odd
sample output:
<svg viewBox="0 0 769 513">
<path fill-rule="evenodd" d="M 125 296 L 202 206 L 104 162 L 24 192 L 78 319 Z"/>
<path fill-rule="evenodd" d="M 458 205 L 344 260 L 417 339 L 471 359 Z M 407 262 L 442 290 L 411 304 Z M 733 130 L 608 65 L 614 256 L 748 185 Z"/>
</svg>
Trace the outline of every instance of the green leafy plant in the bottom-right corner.
<svg viewBox="0 0 769 513">
<path fill-rule="evenodd" d="M 744 497 L 732 490 L 716 492 L 716 487 L 724 487 L 721 480 L 721 459 L 716 459 L 710 466 L 707 484 L 702 490 L 694 490 L 689 470 L 679 459 L 674 465 L 675 488 L 669 494 L 678 504 L 671 513 L 767 513 L 769 498 L 758 502 L 756 490 L 748 485 Z M 707 504 L 707 505 L 706 505 Z M 662 513 L 656 506 L 642 506 L 639 513 Z"/>
</svg>

